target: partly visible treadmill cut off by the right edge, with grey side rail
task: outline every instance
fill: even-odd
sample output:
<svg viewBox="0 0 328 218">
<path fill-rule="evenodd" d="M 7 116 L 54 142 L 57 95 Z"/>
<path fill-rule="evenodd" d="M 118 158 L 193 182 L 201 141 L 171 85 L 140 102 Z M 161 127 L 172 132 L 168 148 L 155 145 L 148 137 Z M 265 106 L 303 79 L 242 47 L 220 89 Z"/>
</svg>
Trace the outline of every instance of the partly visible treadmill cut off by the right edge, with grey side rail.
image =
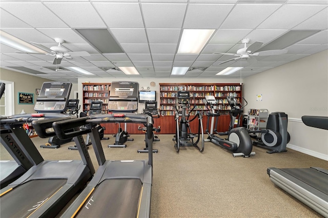
<svg viewBox="0 0 328 218">
<path fill-rule="evenodd" d="M 305 125 L 328 129 L 328 117 L 302 116 Z M 271 181 L 324 217 L 328 217 L 328 170 L 320 167 L 267 169 Z"/>
</svg>

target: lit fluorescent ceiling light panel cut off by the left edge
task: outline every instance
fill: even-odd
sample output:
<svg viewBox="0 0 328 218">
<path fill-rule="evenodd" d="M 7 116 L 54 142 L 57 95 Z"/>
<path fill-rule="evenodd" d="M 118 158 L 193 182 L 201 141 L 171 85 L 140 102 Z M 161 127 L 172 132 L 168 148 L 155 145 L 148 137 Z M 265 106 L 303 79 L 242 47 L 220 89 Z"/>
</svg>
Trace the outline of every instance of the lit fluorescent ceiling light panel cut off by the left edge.
<svg viewBox="0 0 328 218">
<path fill-rule="evenodd" d="M 0 42 L 6 46 L 12 47 L 22 52 L 29 53 L 47 53 L 46 51 L 39 49 L 26 41 L 16 38 L 2 30 L 0 30 Z"/>
</svg>

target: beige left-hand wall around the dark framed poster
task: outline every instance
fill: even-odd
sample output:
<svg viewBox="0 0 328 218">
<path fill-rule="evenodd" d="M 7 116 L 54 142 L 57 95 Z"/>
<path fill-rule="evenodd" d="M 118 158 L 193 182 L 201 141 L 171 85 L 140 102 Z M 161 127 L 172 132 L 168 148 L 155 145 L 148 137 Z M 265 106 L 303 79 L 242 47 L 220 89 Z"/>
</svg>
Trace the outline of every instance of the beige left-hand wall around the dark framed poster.
<svg viewBox="0 0 328 218">
<path fill-rule="evenodd" d="M 20 114 L 24 109 L 25 113 L 34 113 L 34 104 L 37 95 L 35 94 L 35 89 L 40 89 L 44 82 L 49 82 L 52 80 L 44 79 L 36 76 L 31 76 L 28 74 L 18 73 L 15 71 L 10 71 L 7 69 L 0 68 L 0 80 L 7 80 L 14 82 L 14 102 L 15 102 L 15 113 Z M 77 91 L 77 84 L 72 86 L 71 96 L 74 96 L 74 91 Z M 18 104 L 18 92 L 33 93 L 34 94 L 34 104 Z"/>
</svg>

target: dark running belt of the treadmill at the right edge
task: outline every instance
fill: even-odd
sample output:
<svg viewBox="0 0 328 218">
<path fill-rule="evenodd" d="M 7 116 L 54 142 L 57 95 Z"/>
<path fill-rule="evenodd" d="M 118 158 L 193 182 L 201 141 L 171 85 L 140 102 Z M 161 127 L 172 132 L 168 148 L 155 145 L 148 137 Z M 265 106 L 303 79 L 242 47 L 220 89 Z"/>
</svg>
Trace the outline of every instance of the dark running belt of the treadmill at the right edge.
<svg viewBox="0 0 328 218">
<path fill-rule="evenodd" d="M 285 173 L 328 195 L 328 175 L 313 168 L 285 168 Z"/>
</svg>

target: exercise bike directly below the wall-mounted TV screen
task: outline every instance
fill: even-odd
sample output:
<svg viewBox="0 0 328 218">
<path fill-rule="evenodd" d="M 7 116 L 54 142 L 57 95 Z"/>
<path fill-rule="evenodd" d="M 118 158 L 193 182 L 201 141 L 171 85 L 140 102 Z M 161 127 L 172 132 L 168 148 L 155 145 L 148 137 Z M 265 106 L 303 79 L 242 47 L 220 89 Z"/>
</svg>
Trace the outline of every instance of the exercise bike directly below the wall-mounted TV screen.
<svg viewBox="0 0 328 218">
<path fill-rule="evenodd" d="M 149 115 L 152 119 L 153 118 L 159 118 L 159 112 L 157 109 L 157 101 L 147 101 L 145 102 L 145 110 L 143 112 L 144 114 Z M 153 123 L 154 123 L 154 119 L 153 119 Z M 138 130 L 141 130 L 142 132 L 145 133 L 145 137 L 147 137 L 147 126 L 138 126 Z M 155 133 L 159 133 L 160 132 L 160 126 L 157 126 L 157 128 L 154 126 L 153 127 L 153 142 L 159 142 L 159 138 L 158 136 L 155 136 Z M 146 147 L 144 149 L 138 149 L 138 153 L 147 153 L 149 151 L 148 149 L 148 141 L 145 138 L 145 142 L 146 142 Z M 153 149 L 154 153 L 158 152 L 158 149 Z"/>
</svg>

